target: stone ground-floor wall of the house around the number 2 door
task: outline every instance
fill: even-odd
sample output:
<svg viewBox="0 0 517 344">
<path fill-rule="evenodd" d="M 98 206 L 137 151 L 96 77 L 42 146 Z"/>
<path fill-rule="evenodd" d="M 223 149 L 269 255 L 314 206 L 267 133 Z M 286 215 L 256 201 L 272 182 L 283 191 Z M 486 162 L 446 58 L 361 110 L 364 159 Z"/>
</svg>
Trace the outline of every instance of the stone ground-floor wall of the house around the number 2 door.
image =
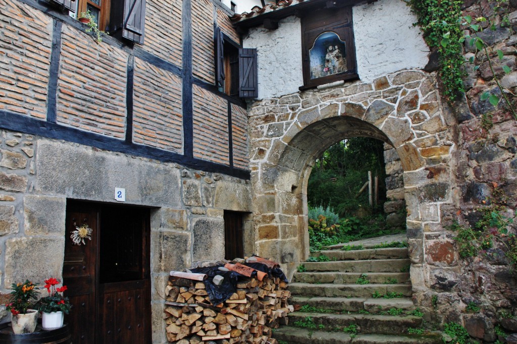
<svg viewBox="0 0 517 344">
<path fill-rule="evenodd" d="M 113 202 L 151 210 L 153 342 L 165 342 L 161 313 L 170 270 L 224 258 L 224 210 L 250 212 L 246 180 L 174 163 L 128 157 L 87 146 L 2 131 L 0 136 L 0 273 L 2 301 L 11 283 L 60 279 L 67 199 Z M 245 223 L 245 233 L 250 231 Z M 247 237 L 252 237 L 247 235 Z M 250 255 L 252 247 L 245 245 Z M 2 313 L 6 315 L 5 309 Z"/>
</svg>

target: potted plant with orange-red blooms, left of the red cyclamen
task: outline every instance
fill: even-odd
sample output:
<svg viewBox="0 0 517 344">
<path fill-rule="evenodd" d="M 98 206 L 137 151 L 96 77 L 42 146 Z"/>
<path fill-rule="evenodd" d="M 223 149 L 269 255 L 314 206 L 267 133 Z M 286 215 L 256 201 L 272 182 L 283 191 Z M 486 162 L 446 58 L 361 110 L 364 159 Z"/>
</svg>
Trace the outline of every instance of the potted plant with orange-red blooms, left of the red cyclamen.
<svg viewBox="0 0 517 344">
<path fill-rule="evenodd" d="M 10 302 L 6 305 L 11 311 L 12 332 L 15 334 L 33 333 L 38 323 L 38 311 L 31 309 L 37 300 L 37 285 L 28 279 L 24 283 L 12 284 Z"/>
</svg>

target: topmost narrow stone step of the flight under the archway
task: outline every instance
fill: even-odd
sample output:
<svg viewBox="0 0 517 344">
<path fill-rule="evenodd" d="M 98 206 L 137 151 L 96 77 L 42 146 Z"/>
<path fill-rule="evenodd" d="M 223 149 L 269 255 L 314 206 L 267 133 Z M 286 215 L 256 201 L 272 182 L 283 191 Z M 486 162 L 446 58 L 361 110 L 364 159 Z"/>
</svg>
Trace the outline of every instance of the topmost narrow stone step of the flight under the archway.
<svg viewBox="0 0 517 344">
<path fill-rule="evenodd" d="M 402 248 L 373 248 L 354 251 L 319 251 L 311 253 L 312 257 L 325 255 L 331 260 L 367 260 L 367 259 L 405 259 L 407 247 Z"/>
</svg>

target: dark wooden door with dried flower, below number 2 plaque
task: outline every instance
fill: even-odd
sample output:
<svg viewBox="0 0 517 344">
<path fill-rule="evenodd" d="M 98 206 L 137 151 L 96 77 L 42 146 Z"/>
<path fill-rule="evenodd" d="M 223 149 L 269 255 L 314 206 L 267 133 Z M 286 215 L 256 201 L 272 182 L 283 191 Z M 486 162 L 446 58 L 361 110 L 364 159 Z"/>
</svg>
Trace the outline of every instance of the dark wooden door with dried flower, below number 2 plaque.
<svg viewBox="0 0 517 344">
<path fill-rule="evenodd" d="M 150 343 L 149 210 L 72 205 L 67 227 L 80 219 L 93 229 L 85 245 L 73 245 L 67 229 L 63 277 L 74 305 L 67 317 L 73 343 Z"/>
</svg>

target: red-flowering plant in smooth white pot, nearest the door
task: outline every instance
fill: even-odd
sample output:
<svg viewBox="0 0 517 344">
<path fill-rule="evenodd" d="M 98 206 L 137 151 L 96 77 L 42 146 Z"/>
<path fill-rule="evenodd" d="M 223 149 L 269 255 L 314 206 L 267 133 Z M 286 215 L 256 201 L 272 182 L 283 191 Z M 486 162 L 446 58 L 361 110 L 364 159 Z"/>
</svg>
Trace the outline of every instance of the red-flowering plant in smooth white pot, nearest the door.
<svg viewBox="0 0 517 344">
<path fill-rule="evenodd" d="M 58 284 L 59 281 L 55 278 L 46 279 L 45 288 L 47 288 L 49 295 L 41 298 L 36 304 L 42 312 L 41 327 L 43 327 L 43 330 L 54 330 L 62 327 L 64 314 L 68 314 L 70 311 L 70 302 L 63 295 L 67 287 L 56 288 Z"/>
</svg>

